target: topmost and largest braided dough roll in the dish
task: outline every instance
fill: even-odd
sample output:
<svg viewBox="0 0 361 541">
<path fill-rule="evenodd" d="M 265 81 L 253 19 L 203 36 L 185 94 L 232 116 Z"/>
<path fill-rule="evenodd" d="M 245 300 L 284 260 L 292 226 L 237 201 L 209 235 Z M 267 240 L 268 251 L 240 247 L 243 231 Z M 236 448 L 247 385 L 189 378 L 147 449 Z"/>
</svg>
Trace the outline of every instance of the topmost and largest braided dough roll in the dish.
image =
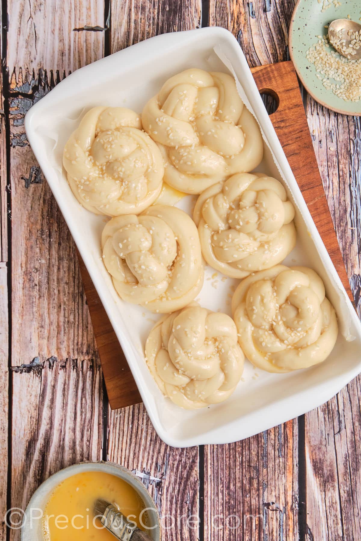
<svg viewBox="0 0 361 541">
<path fill-rule="evenodd" d="M 257 121 L 225 73 L 188 69 L 170 77 L 145 105 L 142 124 L 161 149 L 165 182 L 181 192 L 200 194 L 262 159 Z"/>
</svg>

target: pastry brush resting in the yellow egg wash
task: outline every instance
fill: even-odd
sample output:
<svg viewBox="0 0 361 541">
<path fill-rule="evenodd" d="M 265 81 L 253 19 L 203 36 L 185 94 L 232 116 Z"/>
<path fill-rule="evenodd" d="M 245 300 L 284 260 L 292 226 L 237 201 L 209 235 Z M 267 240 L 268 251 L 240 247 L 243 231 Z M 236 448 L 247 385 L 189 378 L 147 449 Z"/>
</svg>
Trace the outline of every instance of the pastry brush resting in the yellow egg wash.
<svg viewBox="0 0 361 541">
<path fill-rule="evenodd" d="M 117 507 L 106 500 L 98 499 L 94 504 L 94 514 L 106 529 L 120 541 L 152 541 L 132 520 L 124 517 Z"/>
</svg>

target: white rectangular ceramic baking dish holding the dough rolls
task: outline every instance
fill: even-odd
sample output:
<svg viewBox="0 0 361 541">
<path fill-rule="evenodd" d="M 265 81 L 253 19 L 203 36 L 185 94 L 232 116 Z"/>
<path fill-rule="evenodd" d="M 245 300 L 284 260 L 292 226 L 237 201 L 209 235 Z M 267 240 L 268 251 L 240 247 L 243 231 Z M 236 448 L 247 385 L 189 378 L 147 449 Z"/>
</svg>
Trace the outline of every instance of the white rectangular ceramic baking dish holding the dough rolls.
<svg viewBox="0 0 361 541">
<path fill-rule="evenodd" d="M 308 265 L 321 275 L 340 327 L 337 344 L 324 363 L 289 374 L 269 374 L 254 370 L 247 361 L 243 380 L 231 398 L 196 411 L 182 410 L 163 398 L 150 376 L 143 347 L 158 316 L 124 303 L 116 295 L 101 259 L 101 231 L 106 219 L 80 206 L 62 170 L 64 144 L 85 111 L 95 105 L 120 105 L 140 112 L 169 76 L 190 67 L 219 71 L 229 68 L 236 76 L 239 92 L 264 135 L 265 157 L 257 170 L 283 181 L 297 207 L 297 246 L 285 264 Z M 149 417 L 167 444 L 186 447 L 247 438 L 319 406 L 361 371 L 360 322 L 312 221 L 245 57 L 230 32 L 221 28 L 174 32 L 88 65 L 30 109 L 25 129 L 119 338 Z M 179 206 L 190 211 L 193 203 L 192 196 L 188 196 Z M 231 288 L 238 282 L 222 281 L 219 273 L 214 274 L 213 269 L 206 268 L 200 303 L 230 314 Z"/>
</svg>

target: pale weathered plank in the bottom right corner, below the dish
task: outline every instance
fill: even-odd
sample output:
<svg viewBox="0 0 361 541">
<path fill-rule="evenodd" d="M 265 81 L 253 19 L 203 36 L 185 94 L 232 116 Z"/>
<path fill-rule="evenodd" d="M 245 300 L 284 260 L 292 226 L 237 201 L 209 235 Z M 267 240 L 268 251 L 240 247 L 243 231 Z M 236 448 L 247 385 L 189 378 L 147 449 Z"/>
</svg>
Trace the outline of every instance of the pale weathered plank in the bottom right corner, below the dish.
<svg viewBox="0 0 361 541">
<path fill-rule="evenodd" d="M 306 415 L 310 539 L 361 539 L 360 379 Z"/>
</svg>

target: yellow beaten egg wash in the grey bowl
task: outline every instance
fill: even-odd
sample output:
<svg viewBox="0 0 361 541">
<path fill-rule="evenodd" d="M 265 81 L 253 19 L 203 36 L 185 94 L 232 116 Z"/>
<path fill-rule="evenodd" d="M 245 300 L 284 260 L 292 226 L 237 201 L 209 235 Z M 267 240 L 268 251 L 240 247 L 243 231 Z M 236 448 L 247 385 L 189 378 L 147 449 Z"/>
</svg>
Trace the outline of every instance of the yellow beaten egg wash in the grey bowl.
<svg viewBox="0 0 361 541">
<path fill-rule="evenodd" d="M 145 508 L 139 494 L 126 481 L 109 473 L 88 471 L 68 477 L 56 487 L 44 510 L 44 541 L 114 541 L 94 518 L 94 503 L 101 498 L 116 503 L 129 520 L 143 530 Z"/>
</svg>

